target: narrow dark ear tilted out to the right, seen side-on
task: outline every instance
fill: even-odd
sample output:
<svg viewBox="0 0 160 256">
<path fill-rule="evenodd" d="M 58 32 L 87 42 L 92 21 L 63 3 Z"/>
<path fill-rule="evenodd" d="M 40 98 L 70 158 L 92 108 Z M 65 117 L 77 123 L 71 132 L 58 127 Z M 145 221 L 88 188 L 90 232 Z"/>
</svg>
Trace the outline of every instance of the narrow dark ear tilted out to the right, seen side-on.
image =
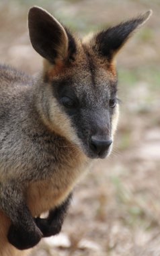
<svg viewBox="0 0 160 256">
<path fill-rule="evenodd" d="M 95 35 L 91 40 L 92 47 L 99 55 L 106 57 L 109 62 L 114 59 L 114 56 L 125 42 L 130 38 L 132 32 L 140 26 L 142 26 L 151 16 L 152 11 L 147 11 L 146 13 L 139 15 L 137 18 L 128 20 L 108 28 Z"/>
</svg>

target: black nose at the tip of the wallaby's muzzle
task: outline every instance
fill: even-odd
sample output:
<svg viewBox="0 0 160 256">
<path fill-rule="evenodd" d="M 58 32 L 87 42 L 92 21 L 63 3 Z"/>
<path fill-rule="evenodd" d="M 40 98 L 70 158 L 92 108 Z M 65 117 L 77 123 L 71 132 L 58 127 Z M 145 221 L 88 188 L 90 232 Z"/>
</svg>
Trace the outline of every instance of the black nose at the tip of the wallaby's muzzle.
<svg viewBox="0 0 160 256">
<path fill-rule="evenodd" d="M 97 154 L 99 157 L 103 157 L 106 154 L 108 148 L 112 144 L 112 139 L 104 140 L 104 139 L 95 139 L 94 136 L 91 137 L 90 147 L 91 150 Z"/>
</svg>

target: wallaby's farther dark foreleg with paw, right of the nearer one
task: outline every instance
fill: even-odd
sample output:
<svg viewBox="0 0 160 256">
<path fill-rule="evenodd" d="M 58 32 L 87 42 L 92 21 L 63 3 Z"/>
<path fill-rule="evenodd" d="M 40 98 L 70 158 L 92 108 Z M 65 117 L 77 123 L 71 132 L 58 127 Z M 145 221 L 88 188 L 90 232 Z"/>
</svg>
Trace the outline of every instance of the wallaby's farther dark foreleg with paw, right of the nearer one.
<svg viewBox="0 0 160 256">
<path fill-rule="evenodd" d="M 71 197 L 72 195 L 69 195 L 61 205 L 50 210 L 48 218 L 35 218 L 36 225 L 40 228 L 44 237 L 53 236 L 61 231 Z"/>
</svg>

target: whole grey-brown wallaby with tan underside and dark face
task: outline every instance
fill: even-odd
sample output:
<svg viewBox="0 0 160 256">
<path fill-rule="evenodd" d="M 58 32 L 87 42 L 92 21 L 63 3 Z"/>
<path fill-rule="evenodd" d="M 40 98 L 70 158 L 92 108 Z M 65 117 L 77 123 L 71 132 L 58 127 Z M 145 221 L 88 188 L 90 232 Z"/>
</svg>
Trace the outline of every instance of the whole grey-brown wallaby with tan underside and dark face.
<svg viewBox="0 0 160 256">
<path fill-rule="evenodd" d="M 110 154 L 119 112 L 115 56 L 150 15 L 80 40 L 44 9 L 30 9 L 43 71 L 35 78 L 0 66 L 1 256 L 22 255 L 60 232 L 73 187 Z"/>
</svg>

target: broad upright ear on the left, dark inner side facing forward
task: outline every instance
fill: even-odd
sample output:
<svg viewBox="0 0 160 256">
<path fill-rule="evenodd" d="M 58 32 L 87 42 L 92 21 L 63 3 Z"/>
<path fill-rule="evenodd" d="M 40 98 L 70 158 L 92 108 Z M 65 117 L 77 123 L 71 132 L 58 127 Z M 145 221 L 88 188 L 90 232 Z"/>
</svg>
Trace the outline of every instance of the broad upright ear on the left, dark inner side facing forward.
<svg viewBox="0 0 160 256">
<path fill-rule="evenodd" d="M 65 60 L 75 53 L 73 36 L 46 10 L 32 7 L 28 13 L 28 28 L 32 46 L 50 63 Z"/>
</svg>

